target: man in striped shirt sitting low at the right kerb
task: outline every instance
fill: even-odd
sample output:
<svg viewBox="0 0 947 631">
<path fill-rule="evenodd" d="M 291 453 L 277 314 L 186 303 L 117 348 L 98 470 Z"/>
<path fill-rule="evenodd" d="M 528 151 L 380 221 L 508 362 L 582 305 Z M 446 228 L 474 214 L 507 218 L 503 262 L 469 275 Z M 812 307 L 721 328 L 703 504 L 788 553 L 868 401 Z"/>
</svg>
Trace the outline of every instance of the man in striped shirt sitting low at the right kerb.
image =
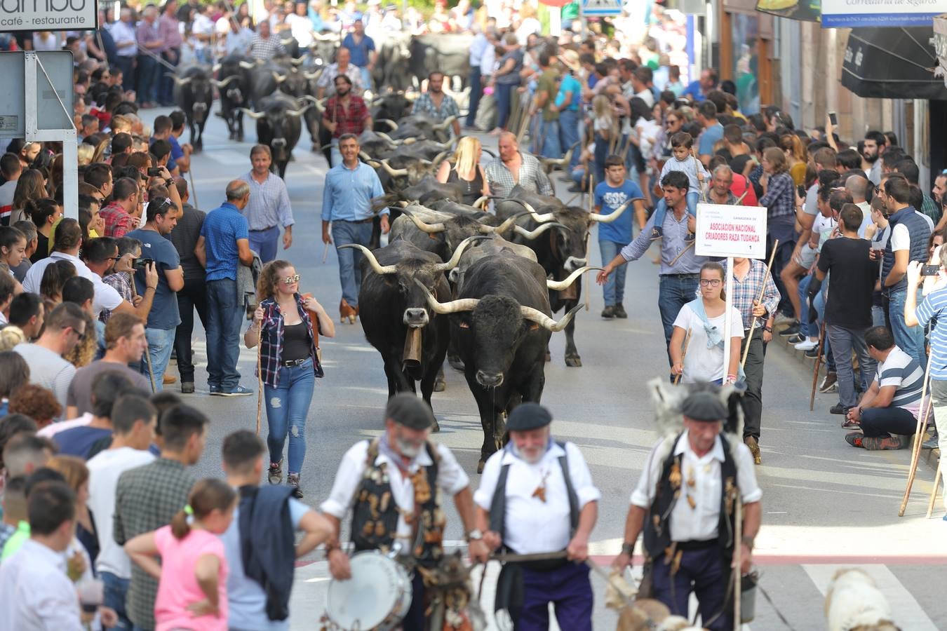
<svg viewBox="0 0 947 631">
<path fill-rule="evenodd" d="M 917 429 L 924 371 L 894 343 L 884 326 L 873 326 L 865 334 L 871 359 L 878 370 L 858 406 L 849 410 L 849 425 L 858 424 L 845 440 L 852 447 L 903 449 L 910 446 Z"/>
</svg>

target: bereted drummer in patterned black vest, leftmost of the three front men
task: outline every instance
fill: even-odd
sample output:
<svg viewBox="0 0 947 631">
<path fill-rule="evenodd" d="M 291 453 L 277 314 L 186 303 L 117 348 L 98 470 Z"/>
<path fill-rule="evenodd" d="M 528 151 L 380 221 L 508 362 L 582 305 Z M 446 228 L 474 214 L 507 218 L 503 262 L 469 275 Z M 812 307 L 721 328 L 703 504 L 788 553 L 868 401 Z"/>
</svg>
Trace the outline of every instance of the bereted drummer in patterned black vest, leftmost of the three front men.
<svg viewBox="0 0 947 631">
<path fill-rule="evenodd" d="M 423 400 L 410 393 L 396 394 L 388 399 L 382 435 L 359 441 L 342 457 L 329 499 L 321 506 L 333 526 L 330 543 L 326 544 L 333 578 L 351 577 L 348 555 L 340 549 L 338 539 L 349 506 L 356 552 L 389 552 L 400 544 L 399 561 L 408 570 L 437 566 L 443 556 L 446 526 L 439 491 L 454 498 L 470 541 L 471 556 L 487 555 L 481 536 L 474 530 L 474 502 L 467 474 L 450 449 L 428 441 L 434 420 L 434 413 Z M 414 571 L 412 587 L 411 608 L 402 628 L 423 631 L 427 603 L 419 571 Z"/>
</svg>

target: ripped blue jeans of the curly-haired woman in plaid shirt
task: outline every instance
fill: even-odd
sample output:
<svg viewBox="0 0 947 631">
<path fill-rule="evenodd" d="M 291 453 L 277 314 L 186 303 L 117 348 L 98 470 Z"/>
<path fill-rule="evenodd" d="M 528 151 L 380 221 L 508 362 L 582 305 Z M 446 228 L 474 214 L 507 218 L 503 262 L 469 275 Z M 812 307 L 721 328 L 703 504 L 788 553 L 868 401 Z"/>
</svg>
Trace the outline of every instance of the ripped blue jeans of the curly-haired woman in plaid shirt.
<svg viewBox="0 0 947 631">
<path fill-rule="evenodd" d="M 270 432 L 266 445 L 270 448 L 270 462 L 278 463 L 283 457 L 283 446 L 289 435 L 289 465 L 286 471 L 299 473 L 306 458 L 306 416 L 313 400 L 315 373 L 313 359 L 300 366 L 279 368 L 279 386 L 263 386 L 266 402 L 266 422 Z"/>
</svg>

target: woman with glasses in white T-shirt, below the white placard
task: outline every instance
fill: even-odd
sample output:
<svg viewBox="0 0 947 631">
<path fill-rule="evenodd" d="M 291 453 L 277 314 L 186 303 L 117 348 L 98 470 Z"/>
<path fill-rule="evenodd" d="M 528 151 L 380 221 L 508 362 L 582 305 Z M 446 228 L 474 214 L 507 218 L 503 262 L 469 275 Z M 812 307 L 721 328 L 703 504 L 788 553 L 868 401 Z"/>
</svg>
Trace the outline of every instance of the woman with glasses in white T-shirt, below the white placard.
<svg viewBox="0 0 947 631">
<path fill-rule="evenodd" d="M 681 375 L 684 383 L 737 381 L 743 320 L 736 307 L 730 307 L 730 357 L 724 372 L 725 295 L 724 267 L 705 263 L 701 268 L 700 296 L 677 314 L 670 336 L 670 372 Z M 687 355 L 684 341 L 690 332 Z"/>
</svg>

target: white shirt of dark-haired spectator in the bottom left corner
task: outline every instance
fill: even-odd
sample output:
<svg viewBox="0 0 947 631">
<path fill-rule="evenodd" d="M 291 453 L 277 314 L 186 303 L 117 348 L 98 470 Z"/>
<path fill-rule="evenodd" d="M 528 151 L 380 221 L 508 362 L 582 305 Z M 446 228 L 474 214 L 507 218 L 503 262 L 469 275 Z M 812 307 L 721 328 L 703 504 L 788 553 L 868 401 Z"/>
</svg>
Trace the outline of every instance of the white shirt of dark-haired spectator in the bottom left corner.
<svg viewBox="0 0 947 631">
<path fill-rule="evenodd" d="M 27 539 L 0 567 L 0 629 L 81 631 L 79 596 L 65 557 Z"/>
</svg>

